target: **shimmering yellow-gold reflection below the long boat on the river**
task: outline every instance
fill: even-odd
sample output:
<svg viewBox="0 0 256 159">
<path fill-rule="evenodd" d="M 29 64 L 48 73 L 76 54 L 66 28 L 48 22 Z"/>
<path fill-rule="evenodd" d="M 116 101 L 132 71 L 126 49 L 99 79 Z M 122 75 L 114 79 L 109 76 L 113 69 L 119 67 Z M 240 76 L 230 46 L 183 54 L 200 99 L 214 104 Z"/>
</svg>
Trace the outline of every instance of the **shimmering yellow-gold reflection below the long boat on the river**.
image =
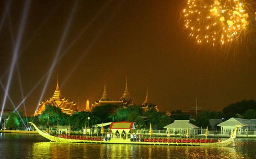
<svg viewBox="0 0 256 159">
<path fill-rule="evenodd" d="M 187 147 L 163 145 L 125 144 L 59 144 L 50 142 L 33 143 L 33 159 L 38 158 L 184 158 L 184 159 L 242 159 L 234 147 Z"/>
</svg>

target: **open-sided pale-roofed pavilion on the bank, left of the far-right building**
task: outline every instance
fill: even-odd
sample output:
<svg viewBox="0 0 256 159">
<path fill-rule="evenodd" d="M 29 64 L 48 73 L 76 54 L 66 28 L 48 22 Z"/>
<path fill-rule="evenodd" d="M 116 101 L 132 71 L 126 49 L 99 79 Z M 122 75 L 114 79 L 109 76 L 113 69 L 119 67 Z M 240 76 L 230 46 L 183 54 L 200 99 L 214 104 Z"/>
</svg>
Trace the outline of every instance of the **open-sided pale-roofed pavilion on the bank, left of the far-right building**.
<svg viewBox="0 0 256 159">
<path fill-rule="evenodd" d="M 184 135 L 189 131 L 189 135 L 194 136 L 197 135 L 197 131 L 199 127 L 190 123 L 189 120 L 174 120 L 173 123 L 166 125 L 165 129 L 170 130 L 170 134 L 175 135 Z"/>
</svg>

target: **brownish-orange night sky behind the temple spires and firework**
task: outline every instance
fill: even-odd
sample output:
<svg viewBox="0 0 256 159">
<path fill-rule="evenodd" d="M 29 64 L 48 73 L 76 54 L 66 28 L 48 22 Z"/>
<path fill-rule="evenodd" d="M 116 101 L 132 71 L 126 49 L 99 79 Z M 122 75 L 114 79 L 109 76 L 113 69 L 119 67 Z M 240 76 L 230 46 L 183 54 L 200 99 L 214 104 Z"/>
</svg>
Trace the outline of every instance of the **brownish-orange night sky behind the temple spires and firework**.
<svg viewBox="0 0 256 159">
<path fill-rule="evenodd" d="M 6 2 L 0 2 L 1 21 Z M 228 104 L 255 99 L 254 45 L 232 45 L 235 49 L 227 51 L 196 44 L 182 29 L 182 3 L 78 1 L 43 101 L 53 95 L 57 73 L 62 95 L 69 101 L 79 101 L 80 110 L 85 109 L 87 98 L 94 103 L 101 97 L 104 80 L 108 97 L 118 100 L 125 89 L 126 75 L 136 104 L 143 103 L 148 87 L 149 100 L 160 111 L 190 109 L 196 98 L 204 110 L 222 110 Z M 74 4 L 75 1 L 32 1 L 18 52 L 24 96 L 51 67 Z M 13 56 L 11 37 L 16 41 L 23 6 L 24 1 L 13 0 L 0 28 L 0 78 L 5 87 Z M 63 55 L 89 23 L 88 29 Z M 45 81 L 46 78 L 27 98 L 29 111 L 38 105 Z M 22 100 L 16 67 L 9 95 L 16 105 Z M 1 106 L 3 96 L 1 88 Z M 5 109 L 12 108 L 8 100 Z"/>
</svg>

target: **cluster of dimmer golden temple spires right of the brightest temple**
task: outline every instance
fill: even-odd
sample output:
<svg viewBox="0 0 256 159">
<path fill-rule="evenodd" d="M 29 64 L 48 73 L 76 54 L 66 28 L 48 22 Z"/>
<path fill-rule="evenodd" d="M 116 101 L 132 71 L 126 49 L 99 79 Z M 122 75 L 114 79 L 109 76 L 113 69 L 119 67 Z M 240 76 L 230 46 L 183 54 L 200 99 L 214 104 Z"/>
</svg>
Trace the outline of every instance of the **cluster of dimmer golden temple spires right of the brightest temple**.
<svg viewBox="0 0 256 159">
<path fill-rule="evenodd" d="M 126 108 L 127 106 L 130 106 L 130 105 L 136 105 L 134 98 L 130 95 L 130 93 L 128 91 L 127 77 L 126 77 L 124 93 L 119 100 L 114 101 L 114 100 L 110 100 L 108 98 L 108 94 L 106 91 L 106 82 L 105 82 L 104 83 L 104 91 L 103 91 L 101 98 L 98 101 L 96 101 L 95 104 L 92 104 L 90 108 L 89 108 L 89 100 L 87 99 L 87 101 L 88 101 L 88 103 L 86 103 L 85 111 L 92 111 L 92 109 L 94 107 L 107 105 L 107 104 L 112 104 L 112 105 L 116 105 L 116 106 L 124 107 L 124 108 Z M 150 103 L 149 103 L 148 91 L 147 91 L 146 98 L 145 98 L 143 104 L 141 105 L 141 107 L 143 108 L 144 111 L 146 111 L 149 108 L 149 105 L 150 105 Z M 154 106 L 154 107 L 157 111 L 159 111 L 157 106 Z"/>
</svg>

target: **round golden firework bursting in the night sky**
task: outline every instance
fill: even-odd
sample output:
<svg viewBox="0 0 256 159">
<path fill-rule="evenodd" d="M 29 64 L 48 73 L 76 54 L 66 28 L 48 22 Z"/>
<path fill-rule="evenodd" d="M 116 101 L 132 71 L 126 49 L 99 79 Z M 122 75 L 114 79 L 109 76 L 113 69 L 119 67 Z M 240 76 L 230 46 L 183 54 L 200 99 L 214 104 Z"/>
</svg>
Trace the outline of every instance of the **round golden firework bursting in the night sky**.
<svg viewBox="0 0 256 159">
<path fill-rule="evenodd" d="M 224 45 L 244 37 L 251 25 L 250 7 L 245 0 L 187 0 L 182 17 L 197 43 Z"/>
</svg>

